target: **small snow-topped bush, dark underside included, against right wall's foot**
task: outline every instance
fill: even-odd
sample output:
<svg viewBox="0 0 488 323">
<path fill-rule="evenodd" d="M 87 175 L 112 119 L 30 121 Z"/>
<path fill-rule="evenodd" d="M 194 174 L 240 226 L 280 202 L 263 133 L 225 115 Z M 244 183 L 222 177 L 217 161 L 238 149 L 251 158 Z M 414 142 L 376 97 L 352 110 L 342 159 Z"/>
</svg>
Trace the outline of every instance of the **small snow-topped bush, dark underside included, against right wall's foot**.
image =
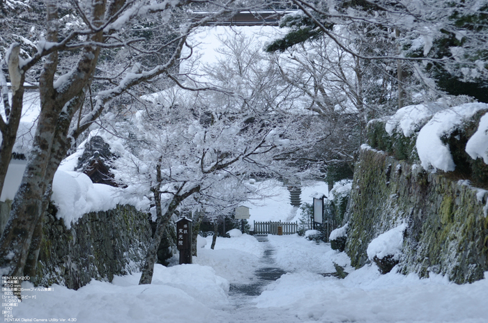
<svg viewBox="0 0 488 323">
<path fill-rule="evenodd" d="M 367 257 L 378 266 L 381 274 L 386 274 L 398 264 L 403 248 L 406 224 L 382 233 L 367 246 Z"/>
</svg>

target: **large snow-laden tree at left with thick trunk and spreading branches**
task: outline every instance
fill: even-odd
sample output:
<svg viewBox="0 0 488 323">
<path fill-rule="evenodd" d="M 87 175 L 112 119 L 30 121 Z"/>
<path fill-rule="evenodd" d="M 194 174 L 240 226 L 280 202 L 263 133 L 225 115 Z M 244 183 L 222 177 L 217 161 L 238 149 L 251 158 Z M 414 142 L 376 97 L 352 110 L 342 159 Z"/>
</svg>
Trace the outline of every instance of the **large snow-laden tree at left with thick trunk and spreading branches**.
<svg viewBox="0 0 488 323">
<path fill-rule="evenodd" d="M 46 19 L 40 29 L 36 52 L 20 56 L 17 44 L 6 53 L 10 79 L 15 80 L 10 117 L 0 120 L 0 130 L 15 136 L 15 117 L 22 111 L 24 81 L 29 71 L 39 68 L 40 116 L 26 172 L 13 200 L 6 229 L 0 240 L 0 268 L 3 276 L 31 274 L 36 264 L 42 234 L 42 215 L 47 207 L 52 178 L 61 159 L 82 132 L 109 109 L 117 97 L 146 81 L 167 77 L 175 79 L 174 66 L 182 59 L 181 48 L 196 26 L 224 13 L 239 10 L 233 1 L 211 1 L 208 15 L 191 19 L 193 4 L 206 1 L 74 1 L 46 0 Z M 10 3 L 10 2 L 9 2 Z M 69 17 L 61 16 L 70 11 Z M 175 24 L 173 17 L 181 17 Z M 65 19 L 66 18 L 66 19 Z M 157 21 L 157 44 L 136 33 L 142 21 Z M 77 23 L 74 23 L 77 22 Z M 167 37 L 162 33 L 167 32 Z M 127 50 L 137 59 L 113 61 L 114 68 L 101 67 L 118 51 Z M 66 53 L 73 63 L 63 64 Z M 164 52 L 164 55 L 161 55 Z M 160 61 L 142 59 L 160 55 Z M 141 58 L 141 59 L 139 59 Z M 18 62 L 18 63 L 17 63 Z M 151 65 L 146 65 L 150 62 Z M 121 65 L 124 66 L 121 69 Z M 93 87 L 96 83 L 101 84 Z M 3 82 L 2 82 L 3 83 Z M 89 104 L 83 107 L 87 100 Z M 0 169 L 6 169 L 10 152 L 2 140 Z M 186 194 L 182 187 L 181 194 Z M 29 267 L 28 262 L 32 265 Z M 30 268 L 30 269 L 29 269 Z"/>
</svg>

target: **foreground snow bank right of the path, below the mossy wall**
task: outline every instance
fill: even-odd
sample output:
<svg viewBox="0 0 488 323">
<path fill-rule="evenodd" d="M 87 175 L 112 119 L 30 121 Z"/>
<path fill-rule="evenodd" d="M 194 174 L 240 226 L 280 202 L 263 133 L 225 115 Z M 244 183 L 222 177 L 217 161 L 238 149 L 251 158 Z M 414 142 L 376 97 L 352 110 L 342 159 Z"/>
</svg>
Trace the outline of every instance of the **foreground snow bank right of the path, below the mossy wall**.
<svg viewBox="0 0 488 323">
<path fill-rule="evenodd" d="M 456 285 L 435 274 L 380 275 L 374 266 L 364 266 L 342 280 L 288 273 L 253 302 L 257 308 L 293 313 L 296 322 L 484 323 L 488 308 L 480 304 L 487 285 L 486 279 Z"/>
</svg>

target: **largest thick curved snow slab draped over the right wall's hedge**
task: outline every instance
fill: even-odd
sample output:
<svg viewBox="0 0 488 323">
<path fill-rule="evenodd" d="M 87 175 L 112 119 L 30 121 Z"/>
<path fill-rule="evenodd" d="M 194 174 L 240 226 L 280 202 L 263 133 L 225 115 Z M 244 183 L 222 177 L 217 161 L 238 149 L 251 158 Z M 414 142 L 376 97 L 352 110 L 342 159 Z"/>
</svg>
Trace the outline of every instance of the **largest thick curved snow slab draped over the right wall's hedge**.
<svg viewBox="0 0 488 323">
<path fill-rule="evenodd" d="M 450 134 L 464 120 L 471 118 L 476 112 L 488 109 L 485 103 L 467 103 L 458 107 L 437 112 L 431 120 L 420 129 L 416 147 L 422 167 L 427 170 L 431 166 L 443 171 L 454 171 L 456 165 L 449 147 L 441 141 L 441 137 Z M 478 148 L 481 144 L 475 144 Z M 478 149 L 476 149 L 478 150 Z"/>
</svg>

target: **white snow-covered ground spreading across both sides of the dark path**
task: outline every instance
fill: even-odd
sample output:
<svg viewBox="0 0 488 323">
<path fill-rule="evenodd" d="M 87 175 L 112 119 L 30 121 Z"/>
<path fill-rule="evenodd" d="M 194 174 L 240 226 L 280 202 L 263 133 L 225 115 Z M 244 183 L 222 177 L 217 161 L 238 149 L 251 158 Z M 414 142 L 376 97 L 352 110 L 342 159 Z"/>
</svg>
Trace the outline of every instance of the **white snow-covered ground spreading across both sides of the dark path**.
<svg viewBox="0 0 488 323">
<path fill-rule="evenodd" d="M 206 242 L 194 265 L 156 266 L 151 285 L 137 285 L 140 274 L 92 281 L 77 291 L 54 285 L 49 292 L 24 292 L 29 298 L 13 308 L 13 316 L 77 322 L 488 322 L 488 273 L 470 285 L 441 276 L 381 276 L 374 266 L 353 270 L 344 253 L 297 235 L 272 236 L 268 243 L 249 235 L 218 238 L 215 250 L 210 237 Z M 252 283 L 254 271 L 270 266 L 263 260 L 266 249 L 275 252 L 272 266 L 287 274 L 258 296 L 229 292 L 230 285 Z M 333 262 L 349 276 L 321 275 L 334 271 Z"/>
</svg>

